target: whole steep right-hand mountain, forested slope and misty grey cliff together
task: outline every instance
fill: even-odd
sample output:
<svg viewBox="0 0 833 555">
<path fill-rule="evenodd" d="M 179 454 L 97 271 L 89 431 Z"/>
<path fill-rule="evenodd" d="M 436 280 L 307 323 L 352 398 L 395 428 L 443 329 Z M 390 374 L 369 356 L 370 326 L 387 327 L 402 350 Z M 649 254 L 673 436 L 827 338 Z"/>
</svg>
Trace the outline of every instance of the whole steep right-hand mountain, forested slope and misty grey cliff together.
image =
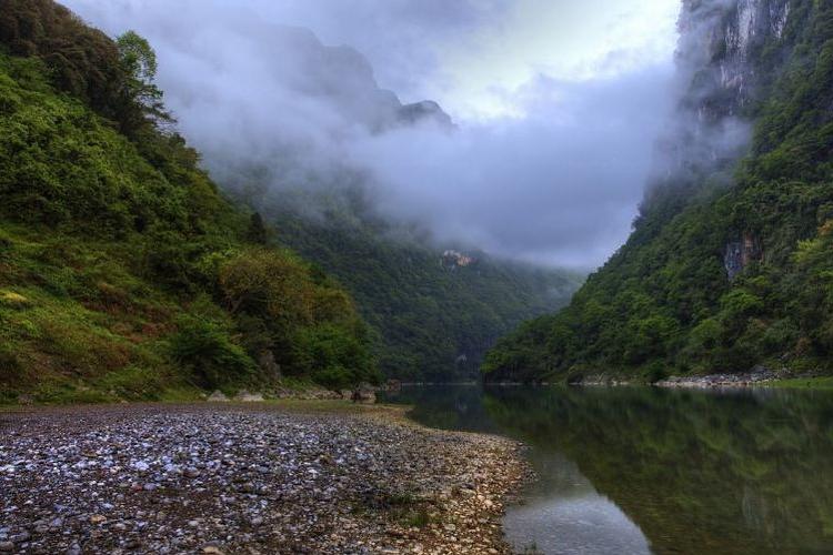
<svg viewBox="0 0 833 555">
<path fill-rule="evenodd" d="M 628 242 L 491 380 L 833 369 L 833 4 L 685 0 L 683 93 Z"/>
</svg>

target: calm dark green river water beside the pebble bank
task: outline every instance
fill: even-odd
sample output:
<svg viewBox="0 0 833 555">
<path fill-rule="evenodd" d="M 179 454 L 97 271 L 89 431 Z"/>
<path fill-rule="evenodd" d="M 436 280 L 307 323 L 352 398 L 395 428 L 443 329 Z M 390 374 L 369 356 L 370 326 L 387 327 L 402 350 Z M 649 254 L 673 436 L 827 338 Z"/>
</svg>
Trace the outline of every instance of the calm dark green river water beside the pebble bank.
<svg viewBox="0 0 833 555">
<path fill-rule="evenodd" d="M 525 442 L 518 552 L 833 554 L 833 393 L 414 386 L 423 424 Z"/>
</svg>

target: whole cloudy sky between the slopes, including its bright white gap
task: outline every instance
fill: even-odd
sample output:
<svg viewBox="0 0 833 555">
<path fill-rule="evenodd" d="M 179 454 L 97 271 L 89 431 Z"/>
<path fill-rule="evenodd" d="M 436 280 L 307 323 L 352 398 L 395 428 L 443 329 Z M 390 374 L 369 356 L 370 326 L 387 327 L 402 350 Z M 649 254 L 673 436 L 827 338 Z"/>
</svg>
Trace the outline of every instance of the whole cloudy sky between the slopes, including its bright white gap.
<svg viewBox="0 0 833 555">
<path fill-rule="evenodd" d="M 626 239 L 673 101 L 678 0 L 64 3 L 151 40 L 168 103 L 207 158 L 284 149 L 299 165 L 354 164 L 388 214 L 548 264 L 594 268 Z M 287 69 L 297 53 L 274 26 L 354 48 L 381 88 L 438 101 L 459 130 L 358 132 L 287 84 L 312 69 Z"/>
</svg>

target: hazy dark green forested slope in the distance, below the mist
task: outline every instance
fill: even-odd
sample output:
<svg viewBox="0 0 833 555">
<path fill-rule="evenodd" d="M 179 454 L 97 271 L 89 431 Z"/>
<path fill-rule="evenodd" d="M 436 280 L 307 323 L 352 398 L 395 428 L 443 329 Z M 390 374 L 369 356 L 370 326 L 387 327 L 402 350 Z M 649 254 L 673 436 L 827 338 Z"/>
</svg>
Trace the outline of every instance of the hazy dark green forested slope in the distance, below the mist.
<svg viewBox="0 0 833 555">
<path fill-rule="evenodd" d="M 483 353 L 498 337 L 524 319 L 566 304 L 581 281 L 482 253 L 472 254 L 472 264 L 458 265 L 368 213 L 353 199 L 347 206 L 332 202 L 320 220 L 281 212 L 275 225 L 280 241 L 335 275 L 354 295 L 389 377 L 479 379 Z"/>
</svg>

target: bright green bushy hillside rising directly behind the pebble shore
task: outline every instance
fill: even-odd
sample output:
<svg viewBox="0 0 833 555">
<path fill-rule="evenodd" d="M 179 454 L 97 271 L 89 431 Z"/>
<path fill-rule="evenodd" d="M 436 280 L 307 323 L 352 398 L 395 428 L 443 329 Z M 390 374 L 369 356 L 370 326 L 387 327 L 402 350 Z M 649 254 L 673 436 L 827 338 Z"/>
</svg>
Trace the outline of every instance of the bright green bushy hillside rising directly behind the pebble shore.
<svg viewBox="0 0 833 555">
<path fill-rule="evenodd" d="M 351 296 L 231 204 L 134 33 L 0 9 L 0 401 L 379 377 Z"/>
</svg>

